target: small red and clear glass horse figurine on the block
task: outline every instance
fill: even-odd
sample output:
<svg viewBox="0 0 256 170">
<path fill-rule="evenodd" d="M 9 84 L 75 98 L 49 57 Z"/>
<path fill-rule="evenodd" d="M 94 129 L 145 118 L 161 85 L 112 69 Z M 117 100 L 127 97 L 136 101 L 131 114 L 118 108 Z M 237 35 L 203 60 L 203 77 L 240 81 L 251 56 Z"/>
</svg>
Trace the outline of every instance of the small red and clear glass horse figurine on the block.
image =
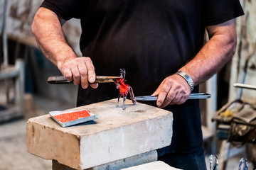
<svg viewBox="0 0 256 170">
<path fill-rule="evenodd" d="M 114 84 L 116 84 L 117 89 L 119 89 L 119 94 L 118 94 L 118 99 L 117 99 L 117 105 L 116 106 L 119 107 L 120 97 L 123 97 L 123 110 L 125 110 L 126 109 L 125 100 L 127 98 L 128 93 L 129 93 L 130 98 L 132 100 L 132 103 L 134 105 L 136 104 L 136 100 L 134 99 L 134 93 L 132 91 L 132 87 L 129 86 L 129 84 L 124 84 L 125 69 L 120 69 L 120 77 L 121 78 L 114 80 Z"/>
</svg>

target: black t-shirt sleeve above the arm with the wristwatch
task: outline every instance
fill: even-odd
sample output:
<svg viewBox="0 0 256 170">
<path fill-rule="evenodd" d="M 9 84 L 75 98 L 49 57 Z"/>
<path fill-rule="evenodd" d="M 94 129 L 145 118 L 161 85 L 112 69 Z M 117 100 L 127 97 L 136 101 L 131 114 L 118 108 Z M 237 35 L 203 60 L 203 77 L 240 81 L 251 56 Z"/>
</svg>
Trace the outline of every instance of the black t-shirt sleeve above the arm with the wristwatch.
<svg viewBox="0 0 256 170">
<path fill-rule="evenodd" d="M 239 0 L 205 0 L 203 20 L 205 26 L 213 26 L 244 14 Z"/>
</svg>

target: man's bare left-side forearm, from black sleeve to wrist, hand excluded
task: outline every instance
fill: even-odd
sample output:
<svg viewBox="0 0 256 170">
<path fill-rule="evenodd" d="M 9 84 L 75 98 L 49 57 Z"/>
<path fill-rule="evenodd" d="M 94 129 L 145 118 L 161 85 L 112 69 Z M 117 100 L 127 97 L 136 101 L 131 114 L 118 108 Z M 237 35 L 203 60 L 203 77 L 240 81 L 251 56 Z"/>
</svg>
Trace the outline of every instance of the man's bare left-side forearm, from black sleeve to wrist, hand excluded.
<svg viewBox="0 0 256 170">
<path fill-rule="evenodd" d="M 40 8 L 32 25 L 32 32 L 43 54 L 58 68 L 76 58 L 75 52 L 65 40 L 58 16 L 46 8 Z"/>
</svg>

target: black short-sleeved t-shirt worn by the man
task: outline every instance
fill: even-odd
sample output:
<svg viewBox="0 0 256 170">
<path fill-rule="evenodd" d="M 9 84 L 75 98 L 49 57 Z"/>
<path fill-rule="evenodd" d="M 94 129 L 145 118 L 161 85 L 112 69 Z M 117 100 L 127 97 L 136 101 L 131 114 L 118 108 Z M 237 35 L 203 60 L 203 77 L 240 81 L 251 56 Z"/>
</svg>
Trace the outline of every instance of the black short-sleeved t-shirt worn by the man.
<svg viewBox="0 0 256 170">
<path fill-rule="evenodd" d="M 238 0 L 45 0 L 41 6 L 65 20 L 80 18 L 82 55 L 91 57 L 97 75 L 118 76 L 124 68 L 135 96 L 152 94 L 164 78 L 193 59 L 203 46 L 206 26 L 243 14 Z M 114 84 L 79 88 L 78 106 L 117 98 L 118 93 Z M 159 155 L 200 149 L 198 101 L 166 109 L 174 113 L 173 137 Z"/>
</svg>

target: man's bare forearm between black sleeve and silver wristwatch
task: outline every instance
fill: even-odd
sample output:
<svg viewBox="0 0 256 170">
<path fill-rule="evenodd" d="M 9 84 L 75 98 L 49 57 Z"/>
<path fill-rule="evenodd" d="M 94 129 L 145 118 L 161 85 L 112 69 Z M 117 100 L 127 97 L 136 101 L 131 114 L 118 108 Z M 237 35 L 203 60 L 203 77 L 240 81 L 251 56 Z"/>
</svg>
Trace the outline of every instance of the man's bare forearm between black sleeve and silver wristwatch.
<svg viewBox="0 0 256 170">
<path fill-rule="evenodd" d="M 235 23 L 229 23 L 227 28 L 224 24 L 221 26 L 223 28 L 218 28 L 218 31 L 213 30 L 210 33 L 210 40 L 196 57 L 181 68 L 183 72 L 191 76 L 195 85 L 212 77 L 235 54 L 236 32 L 235 26 L 230 29 L 230 24 L 234 25 Z"/>
</svg>

